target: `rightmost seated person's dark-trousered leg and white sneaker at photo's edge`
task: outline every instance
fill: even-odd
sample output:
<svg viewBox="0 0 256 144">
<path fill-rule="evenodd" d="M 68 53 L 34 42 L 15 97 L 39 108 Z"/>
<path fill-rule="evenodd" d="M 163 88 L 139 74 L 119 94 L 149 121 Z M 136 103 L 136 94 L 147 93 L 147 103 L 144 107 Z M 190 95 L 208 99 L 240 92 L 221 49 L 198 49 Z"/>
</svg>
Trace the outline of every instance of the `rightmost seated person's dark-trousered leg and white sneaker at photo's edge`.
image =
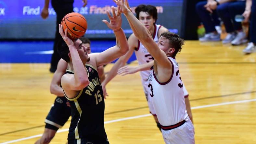
<svg viewBox="0 0 256 144">
<path fill-rule="evenodd" d="M 256 1 L 252 1 L 251 15 L 250 15 L 250 42 L 243 50 L 244 53 L 250 54 L 256 51 Z"/>
</svg>

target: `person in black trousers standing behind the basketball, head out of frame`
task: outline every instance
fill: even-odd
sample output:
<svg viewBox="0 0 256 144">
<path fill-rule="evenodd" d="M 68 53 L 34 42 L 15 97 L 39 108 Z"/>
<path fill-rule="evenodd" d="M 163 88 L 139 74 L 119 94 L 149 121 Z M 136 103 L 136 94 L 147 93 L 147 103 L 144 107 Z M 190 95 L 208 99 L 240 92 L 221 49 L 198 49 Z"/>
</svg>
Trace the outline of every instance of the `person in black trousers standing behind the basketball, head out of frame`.
<svg viewBox="0 0 256 144">
<path fill-rule="evenodd" d="M 87 5 L 87 0 L 83 1 L 83 7 Z M 50 0 L 45 0 L 45 6 L 42 9 L 41 17 L 43 19 L 46 19 L 49 16 L 49 3 Z M 57 52 L 57 43 L 58 40 L 61 39 L 59 35 L 59 27 L 58 24 L 61 22 L 62 18 L 66 16 L 68 13 L 74 12 L 73 11 L 73 3 L 74 0 L 51 0 L 52 7 L 54 11 L 56 12 L 56 32 L 55 32 L 55 38 L 54 38 L 54 44 L 53 44 L 53 54 L 51 58 L 51 67 L 50 72 L 54 73 L 57 69 L 58 61 L 60 60 L 60 56 Z"/>
</svg>

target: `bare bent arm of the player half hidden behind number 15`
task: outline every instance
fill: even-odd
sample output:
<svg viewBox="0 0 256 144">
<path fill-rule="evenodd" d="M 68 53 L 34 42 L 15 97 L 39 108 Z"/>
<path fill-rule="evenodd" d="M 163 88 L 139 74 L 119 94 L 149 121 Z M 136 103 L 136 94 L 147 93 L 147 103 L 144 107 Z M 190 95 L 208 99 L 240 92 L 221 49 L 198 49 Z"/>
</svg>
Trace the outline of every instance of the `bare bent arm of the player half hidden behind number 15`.
<svg viewBox="0 0 256 144">
<path fill-rule="evenodd" d="M 64 92 L 60 87 L 60 79 L 65 74 L 67 69 L 68 63 L 65 62 L 63 59 L 60 59 L 57 65 L 57 69 L 54 72 L 52 82 L 50 85 L 50 92 L 57 96 L 64 96 Z"/>
</svg>

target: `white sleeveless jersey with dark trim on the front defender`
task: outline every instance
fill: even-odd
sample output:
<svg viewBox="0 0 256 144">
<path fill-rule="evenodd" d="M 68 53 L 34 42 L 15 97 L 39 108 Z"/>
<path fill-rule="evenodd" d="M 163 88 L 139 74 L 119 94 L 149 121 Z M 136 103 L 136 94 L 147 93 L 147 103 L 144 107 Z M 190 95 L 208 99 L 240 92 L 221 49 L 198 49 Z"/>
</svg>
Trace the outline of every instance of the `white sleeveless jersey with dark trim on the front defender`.
<svg viewBox="0 0 256 144">
<path fill-rule="evenodd" d="M 152 69 L 148 76 L 148 92 L 152 98 L 157 118 L 162 126 L 175 125 L 183 120 L 188 121 L 184 99 L 183 83 L 179 75 L 179 65 L 168 57 L 173 66 L 171 78 L 160 83 Z"/>
</svg>

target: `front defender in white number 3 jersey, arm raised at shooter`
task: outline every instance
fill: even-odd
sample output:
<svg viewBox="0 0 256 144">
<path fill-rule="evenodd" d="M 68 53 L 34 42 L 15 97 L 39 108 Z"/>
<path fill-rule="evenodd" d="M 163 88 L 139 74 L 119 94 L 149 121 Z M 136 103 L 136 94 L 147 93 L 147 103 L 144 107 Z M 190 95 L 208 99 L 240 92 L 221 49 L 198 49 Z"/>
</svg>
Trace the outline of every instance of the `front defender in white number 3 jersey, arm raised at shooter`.
<svg viewBox="0 0 256 144">
<path fill-rule="evenodd" d="M 163 32 L 158 43 L 145 26 L 130 11 L 128 1 L 113 0 L 126 16 L 134 35 L 155 58 L 148 75 L 149 95 L 167 144 L 194 144 L 194 126 L 186 112 L 183 84 L 175 56 L 184 40 L 172 32 Z"/>
</svg>

